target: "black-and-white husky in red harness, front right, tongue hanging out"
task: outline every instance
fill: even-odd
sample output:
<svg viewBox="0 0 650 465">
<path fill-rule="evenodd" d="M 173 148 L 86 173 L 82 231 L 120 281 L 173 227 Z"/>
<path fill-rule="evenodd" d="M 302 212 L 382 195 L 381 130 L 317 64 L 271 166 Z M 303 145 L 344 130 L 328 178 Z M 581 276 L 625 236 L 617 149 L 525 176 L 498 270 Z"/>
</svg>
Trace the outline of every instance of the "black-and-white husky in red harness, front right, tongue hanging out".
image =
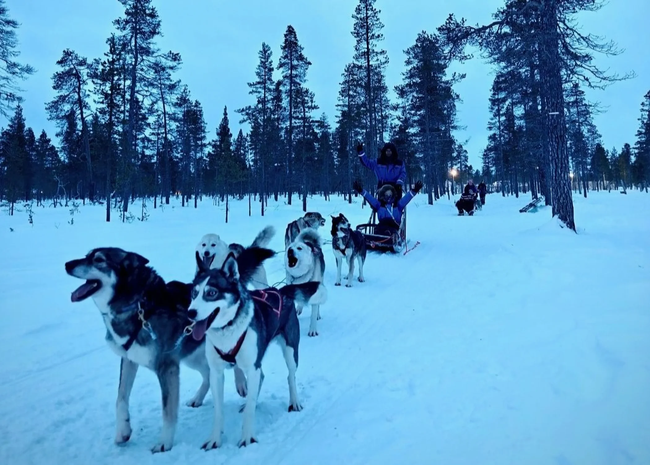
<svg viewBox="0 0 650 465">
<path fill-rule="evenodd" d="M 206 267 L 196 253 L 199 272 L 194 278 L 188 314 L 196 322 L 192 336 L 203 339 L 205 335 L 207 340 L 206 354 L 214 399 L 213 430 L 202 449 L 216 449 L 222 444 L 224 369 L 229 365 L 244 369 L 248 378 L 239 446 L 256 442 L 255 406 L 264 376 L 261 363 L 273 339 L 277 338 L 289 369 L 289 412 L 302 410 L 295 377 L 300 325 L 294 305 L 304 305 L 317 292 L 318 283 L 248 291 L 249 270 L 272 256 L 272 250 L 247 248 L 239 258 L 230 254 L 221 269 L 214 269 Z"/>
</svg>

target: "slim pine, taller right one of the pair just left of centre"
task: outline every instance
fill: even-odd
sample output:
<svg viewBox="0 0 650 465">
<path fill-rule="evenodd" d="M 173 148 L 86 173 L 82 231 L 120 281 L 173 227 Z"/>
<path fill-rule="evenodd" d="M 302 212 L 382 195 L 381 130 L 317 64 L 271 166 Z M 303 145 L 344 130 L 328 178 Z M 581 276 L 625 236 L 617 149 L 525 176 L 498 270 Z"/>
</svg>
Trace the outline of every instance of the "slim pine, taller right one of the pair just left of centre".
<svg viewBox="0 0 650 465">
<path fill-rule="evenodd" d="M 294 120 L 300 109 L 296 105 L 296 94 L 307 81 L 307 69 L 311 62 L 303 53 L 303 47 L 298 42 L 298 35 L 292 25 L 287 26 L 278 69 L 282 72 L 282 86 L 287 102 L 287 204 L 291 205 L 293 192 L 293 153 L 294 153 Z"/>
</svg>

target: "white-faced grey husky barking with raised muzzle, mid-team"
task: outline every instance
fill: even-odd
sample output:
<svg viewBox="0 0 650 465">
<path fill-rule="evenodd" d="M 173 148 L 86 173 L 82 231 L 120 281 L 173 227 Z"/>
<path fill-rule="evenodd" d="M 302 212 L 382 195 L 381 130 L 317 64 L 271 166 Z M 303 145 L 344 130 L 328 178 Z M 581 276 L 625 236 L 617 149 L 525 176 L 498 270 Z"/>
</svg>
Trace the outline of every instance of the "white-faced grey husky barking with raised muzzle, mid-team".
<svg viewBox="0 0 650 465">
<path fill-rule="evenodd" d="M 325 273 L 325 258 L 320 245 L 320 236 L 315 229 L 307 228 L 287 246 L 285 252 L 285 269 L 287 269 L 287 284 L 302 284 L 319 282 L 318 292 L 309 300 L 311 304 L 311 322 L 308 336 L 318 336 L 317 321 L 320 319 L 320 305 L 327 300 L 327 290 L 323 286 Z M 296 302 L 296 312 L 302 313 L 304 305 Z"/>
</svg>

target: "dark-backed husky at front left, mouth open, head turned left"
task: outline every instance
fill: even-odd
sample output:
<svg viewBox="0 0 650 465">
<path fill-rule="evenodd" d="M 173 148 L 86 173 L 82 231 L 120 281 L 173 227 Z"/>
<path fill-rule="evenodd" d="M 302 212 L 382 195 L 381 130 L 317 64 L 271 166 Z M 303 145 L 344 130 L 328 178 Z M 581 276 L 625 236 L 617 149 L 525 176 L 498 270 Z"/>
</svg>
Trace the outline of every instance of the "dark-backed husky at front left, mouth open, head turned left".
<svg viewBox="0 0 650 465">
<path fill-rule="evenodd" d="M 70 276 L 86 280 L 72 302 L 92 297 L 106 325 L 106 341 L 118 356 L 120 386 L 116 403 L 115 442 L 131 438 L 129 397 L 142 365 L 155 372 L 162 391 L 162 436 L 152 452 L 174 444 L 179 403 L 179 362 L 201 373 L 203 382 L 188 406 L 203 403 L 210 386 L 204 339 L 187 338 L 191 284 L 170 282 L 147 266 L 149 260 L 121 248 L 96 248 L 66 263 Z"/>
</svg>

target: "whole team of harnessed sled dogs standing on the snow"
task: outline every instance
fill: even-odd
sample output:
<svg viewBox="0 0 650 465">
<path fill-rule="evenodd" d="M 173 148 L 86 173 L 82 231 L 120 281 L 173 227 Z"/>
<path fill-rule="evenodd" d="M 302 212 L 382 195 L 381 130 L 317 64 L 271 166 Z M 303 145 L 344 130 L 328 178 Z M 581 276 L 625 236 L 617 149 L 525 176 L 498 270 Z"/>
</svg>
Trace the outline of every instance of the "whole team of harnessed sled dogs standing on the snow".
<svg viewBox="0 0 650 465">
<path fill-rule="evenodd" d="M 337 263 L 335 286 L 341 286 L 343 261 L 348 263 L 346 287 L 352 286 L 355 262 L 363 282 L 365 240 L 340 214 L 331 217 L 332 248 Z M 214 423 L 202 445 L 222 445 L 224 432 L 224 370 L 235 371 L 235 388 L 246 399 L 242 407 L 239 445 L 255 442 L 255 406 L 264 373 L 262 360 L 271 341 L 281 347 L 289 371 L 289 412 L 300 412 L 296 388 L 300 325 L 298 315 L 311 305 L 309 336 L 318 335 L 320 305 L 327 299 L 323 285 L 325 259 L 317 229 L 320 213 L 307 213 L 285 232 L 286 286 L 269 287 L 264 261 L 275 255 L 266 248 L 274 237 L 272 226 L 261 231 L 250 246 L 225 243 L 207 234 L 196 246 L 194 280 L 166 282 L 149 260 L 121 248 L 95 248 L 66 263 L 70 276 L 85 280 L 72 293 L 72 302 L 92 297 L 106 326 L 106 341 L 121 358 L 116 401 L 116 444 L 131 438 L 129 397 L 138 367 L 151 369 L 162 394 L 162 432 L 152 452 L 174 444 L 179 410 L 179 365 L 201 373 L 198 391 L 188 406 L 203 403 L 208 390 L 214 399 Z"/>
</svg>

